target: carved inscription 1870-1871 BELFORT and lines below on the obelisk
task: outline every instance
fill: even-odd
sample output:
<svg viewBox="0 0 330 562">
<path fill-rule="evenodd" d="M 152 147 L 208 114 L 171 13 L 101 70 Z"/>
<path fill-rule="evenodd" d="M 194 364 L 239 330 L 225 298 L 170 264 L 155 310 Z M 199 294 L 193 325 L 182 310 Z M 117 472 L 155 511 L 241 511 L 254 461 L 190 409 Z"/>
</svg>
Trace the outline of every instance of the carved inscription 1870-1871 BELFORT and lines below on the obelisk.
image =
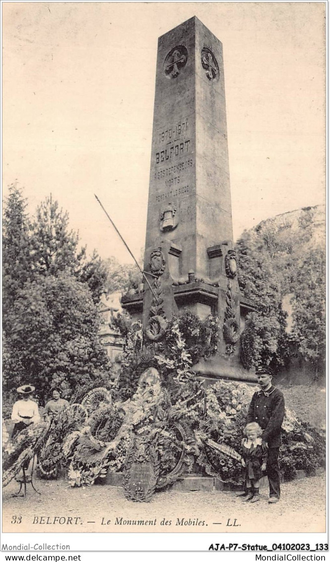
<svg viewBox="0 0 330 562">
<path fill-rule="evenodd" d="M 165 185 L 166 188 L 181 185 L 171 191 L 156 195 L 157 202 L 189 191 L 189 185 L 182 185 L 185 183 L 185 170 L 194 164 L 189 155 L 190 139 L 187 138 L 187 135 L 189 135 L 188 119 L 181 120 L 172 127 L 163 128 L 158 133 L 159 148 L 155 153 L 154 162 L 157 169 L 154 172 L 154 179 L 162 180 L 164 182 L 162 185 Z"/>
</svg>

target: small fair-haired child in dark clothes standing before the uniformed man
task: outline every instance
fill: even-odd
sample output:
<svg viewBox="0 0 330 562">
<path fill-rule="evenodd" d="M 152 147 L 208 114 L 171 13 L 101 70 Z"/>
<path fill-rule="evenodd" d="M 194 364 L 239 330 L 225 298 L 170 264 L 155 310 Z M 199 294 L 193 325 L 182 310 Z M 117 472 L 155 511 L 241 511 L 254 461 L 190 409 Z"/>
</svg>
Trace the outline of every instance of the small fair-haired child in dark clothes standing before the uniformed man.
<svg viewBox="0 0 330 562">
<path fill-rule="evenodd" d="M 248 423 L 242 441 L 242 465 L 245 468 L 246 500 L 254 504 L 259 501 L 259 487 L 262 473 L 266 470 L 267 451 L 263 450 L 262 428 L 256 422 Z"/>
</svg>

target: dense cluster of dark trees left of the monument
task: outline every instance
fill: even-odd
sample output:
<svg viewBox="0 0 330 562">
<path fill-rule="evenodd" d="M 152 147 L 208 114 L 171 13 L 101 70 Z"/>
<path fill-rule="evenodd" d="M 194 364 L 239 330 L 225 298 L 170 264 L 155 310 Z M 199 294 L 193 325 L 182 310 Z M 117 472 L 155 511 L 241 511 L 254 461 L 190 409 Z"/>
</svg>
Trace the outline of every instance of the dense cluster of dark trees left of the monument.
<svg viewBox="0 0 330 562">
<path fill-rule="evenodd" d="M 106 376 L 109 363 L 98 339 L 96 303 L 107 276 L 70 230 L 68 215 L 48 197 L 30 223 L 20 189 L 4 209 L 3 388 L 35 384 L 44 396 Z M 94 301 L 94 302 L 93 302 Z"/>
</svg>

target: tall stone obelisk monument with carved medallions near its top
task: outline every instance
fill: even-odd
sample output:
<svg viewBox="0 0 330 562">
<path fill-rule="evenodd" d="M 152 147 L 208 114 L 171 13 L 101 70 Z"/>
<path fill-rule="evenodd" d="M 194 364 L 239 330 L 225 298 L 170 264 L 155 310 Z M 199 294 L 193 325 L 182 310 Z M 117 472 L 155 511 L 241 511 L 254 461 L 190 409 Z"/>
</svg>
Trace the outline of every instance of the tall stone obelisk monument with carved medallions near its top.
<svg viewBox="0 0 330 562">
<path fill-rule="evenodd" d="M 201 319 L 217 314 L 217 355 L 198 370 L 249 378 L 239 367 L 222 44 L 197 17 L 158 39 L 144 270 L 153 292 L 144 283 L 143 294 L 122 300 L 142 312 L 144 329 L 150 309 L 160 320 L 182 309 Z"/>
</svg>

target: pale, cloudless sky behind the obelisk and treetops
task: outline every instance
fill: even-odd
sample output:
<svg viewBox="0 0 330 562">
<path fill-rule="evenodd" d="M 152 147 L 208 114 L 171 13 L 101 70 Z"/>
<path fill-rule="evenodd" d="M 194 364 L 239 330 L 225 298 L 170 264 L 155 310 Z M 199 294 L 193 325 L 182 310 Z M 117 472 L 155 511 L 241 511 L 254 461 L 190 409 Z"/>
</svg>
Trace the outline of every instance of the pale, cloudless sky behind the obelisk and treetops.
<svg viewBox="0 0 330 562">
<path fill-rule="evenodd" d="M 50 193 L 106 259 L 144 247 L 158 37 L 223 44 L 233 235 L 326 200 L 325 3 L 3 2 L 3 197 Z"/>
</svg>

